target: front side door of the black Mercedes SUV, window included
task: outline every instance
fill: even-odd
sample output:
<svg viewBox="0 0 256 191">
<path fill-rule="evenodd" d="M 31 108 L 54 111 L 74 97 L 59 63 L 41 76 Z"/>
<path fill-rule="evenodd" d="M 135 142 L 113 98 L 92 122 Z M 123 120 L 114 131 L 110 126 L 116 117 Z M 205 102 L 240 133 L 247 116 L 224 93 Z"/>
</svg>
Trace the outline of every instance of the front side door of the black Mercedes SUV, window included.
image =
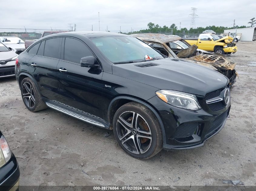
<svg viewBox="0 0 256 191">
<path fill-rule="evenodd" d="M 88 46 L 79 39 L 65 37 L 59 70 L 59 93 L 61 103 L 102 117 L 101 69 L 81 67 L 82 57 L 94 56 Z"/>
</svg>

